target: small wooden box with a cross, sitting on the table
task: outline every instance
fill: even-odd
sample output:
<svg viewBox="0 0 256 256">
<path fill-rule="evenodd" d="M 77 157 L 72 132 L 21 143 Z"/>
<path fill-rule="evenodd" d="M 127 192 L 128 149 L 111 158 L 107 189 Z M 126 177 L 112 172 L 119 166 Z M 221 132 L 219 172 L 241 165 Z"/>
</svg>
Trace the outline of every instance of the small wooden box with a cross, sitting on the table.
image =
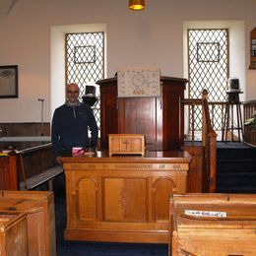
<svg viewBox="0 0 256 256">
<path fill-rule="evenodd" d="M 109 156 L 144 155 L 145 136 L 143 134 L 108 134 Z"/>
</svg>

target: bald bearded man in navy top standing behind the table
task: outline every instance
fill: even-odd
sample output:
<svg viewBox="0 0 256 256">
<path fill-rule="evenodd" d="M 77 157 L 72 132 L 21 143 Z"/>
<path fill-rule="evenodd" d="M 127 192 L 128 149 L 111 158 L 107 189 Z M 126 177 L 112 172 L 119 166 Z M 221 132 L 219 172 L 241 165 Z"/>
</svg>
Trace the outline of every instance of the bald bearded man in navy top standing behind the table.
<svg viewBox="0 0 256 256">
<path fill-rule="evenodd" d="M 82 147 L 96 149 L 96 118 L 90 105 L 78 99 L 77 84 L 67 85 L 67 101 L 55 109 L 51 125 L 51 141 L 56 157 L 71 153 L 72 148 Z M 91 141 L 88 137 L 91 130 Z"/>
</svg>

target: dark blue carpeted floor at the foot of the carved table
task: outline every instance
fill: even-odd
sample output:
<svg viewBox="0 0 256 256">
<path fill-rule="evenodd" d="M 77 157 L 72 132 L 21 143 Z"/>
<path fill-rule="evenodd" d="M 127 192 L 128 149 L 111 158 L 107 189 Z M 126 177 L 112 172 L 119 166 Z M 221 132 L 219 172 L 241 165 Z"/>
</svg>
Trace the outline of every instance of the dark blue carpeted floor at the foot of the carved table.
<svg viewBox="0 0 256 256">
<path fill-rule="evenodd" d="M 65 241 L 66 200 L 64 189 L 55 191 L 57 256 L 167 256 L 166 244 Z"/>
</svg>

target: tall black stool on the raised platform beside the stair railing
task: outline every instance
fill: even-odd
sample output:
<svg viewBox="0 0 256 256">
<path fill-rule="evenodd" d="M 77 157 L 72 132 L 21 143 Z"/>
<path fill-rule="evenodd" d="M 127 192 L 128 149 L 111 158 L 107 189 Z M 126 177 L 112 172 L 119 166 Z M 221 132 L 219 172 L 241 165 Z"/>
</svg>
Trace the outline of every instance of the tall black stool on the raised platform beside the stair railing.
<svg viewBox="0 0 256 256">
<path fill-rule="evenodd" d="M 224 122 L 222 131 L 222 141 L 227 142 L 227 131 L 231 132 L 231 141 L 233 142 L 233 131 L 237 130 L 238 141 L 243 140 L 243 129 L 242 129 L 242 115 L 241 115 L 241 102 L 239 100 L 239 94 L 242 92 L 226 92 L 227 101 L 224 109 Z M 237 126 L 234 126 L 233 113 L 234 106 L 236 107 L 236 118 Z"/>
</svg>

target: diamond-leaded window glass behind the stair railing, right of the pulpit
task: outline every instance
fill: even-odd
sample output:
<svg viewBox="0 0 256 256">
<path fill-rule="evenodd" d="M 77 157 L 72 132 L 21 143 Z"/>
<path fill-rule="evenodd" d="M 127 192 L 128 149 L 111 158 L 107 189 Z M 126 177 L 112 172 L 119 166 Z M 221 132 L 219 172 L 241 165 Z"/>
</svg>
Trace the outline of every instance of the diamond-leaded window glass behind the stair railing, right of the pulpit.
<svg viewBox="0 0 256 256">
<path fill-rule="evenodd" d="M 228 78 L 228 30 L 188 30 L 189 97 L 201 98 L 206 89 L 209 101 L 225 101 Z M 195 107 L 194 128 L 202 129 L 202 110 Z M 189 110 L 189 116 L 192 109 Z M 222 105 L 210 106 L 215 130 L 222 129 Z M 192 118 L 189 118 L 190 122 Z M 190 123 L 191 127 L 191 123 Z"/>
</svg>

